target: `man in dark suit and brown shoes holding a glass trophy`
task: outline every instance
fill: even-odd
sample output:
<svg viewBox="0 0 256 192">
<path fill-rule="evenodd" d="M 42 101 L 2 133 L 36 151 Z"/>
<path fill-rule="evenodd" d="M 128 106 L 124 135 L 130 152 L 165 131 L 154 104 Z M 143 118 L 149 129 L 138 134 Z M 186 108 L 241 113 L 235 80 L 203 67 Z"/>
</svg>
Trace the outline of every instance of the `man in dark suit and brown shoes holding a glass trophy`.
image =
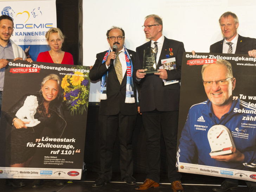
<svg viewBox="0 0 256 192">
<path fill-rule="evenodd" d="M 145 190 L 159 186 L 160 177 L 160 137 L 164 136 L 168 161 L 168 179 L 173 191 L 183 191 L 181 174 L 175 169 L 177 145 L 180 84 L 163 85 L 163 79 L 175 80 L 181 76 L 181 59 L 185 52 L 182 42 L 167 39 L 162 35 L 162 19 L 158 15 L 145 18 L 144 32 L 151 41 L 136 48 L 136 64 L 133 79 L 141 86 L 140 111 L 147 139 L 147 178 L 136 187 Z M 158 73 L 144 73 L 144 49 L 154 48 Z M 161 59 L 175 58 L 177 69 L 159 69 Z M 142 73 L 140 73 L 142 72 Z"/>
</svg>

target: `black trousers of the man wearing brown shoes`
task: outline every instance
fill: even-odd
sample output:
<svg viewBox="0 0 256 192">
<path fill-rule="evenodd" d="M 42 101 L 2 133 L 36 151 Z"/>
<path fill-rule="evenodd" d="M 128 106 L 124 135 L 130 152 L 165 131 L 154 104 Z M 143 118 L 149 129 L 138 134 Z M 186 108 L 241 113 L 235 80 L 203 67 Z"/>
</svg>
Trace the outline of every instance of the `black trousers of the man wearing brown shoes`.
<svg viewBox="0 0 256 192">
<path fill-rule="evenodd" d="M 164 137 L 168 161 L 168 179 L 170 183 L 180 180 L 176 171 L 177 133 L 179 111 L 142 112 L 143 125 L 147 138 L 147 178 L 159 183 L 160 177 L 160 139 L 161 130 Z"/>
</svg>

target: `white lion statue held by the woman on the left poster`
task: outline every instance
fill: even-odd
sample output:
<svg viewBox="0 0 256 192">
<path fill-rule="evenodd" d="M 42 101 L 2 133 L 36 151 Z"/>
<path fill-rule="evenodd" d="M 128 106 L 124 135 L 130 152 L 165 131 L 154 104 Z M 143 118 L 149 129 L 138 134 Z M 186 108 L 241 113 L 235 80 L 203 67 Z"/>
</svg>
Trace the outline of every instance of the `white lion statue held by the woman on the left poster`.
<svg viewBox="0 0 256 192">
<path fill-rule="evenodd" d="M 40 123 L 40 121 L 34 119 L 34 115 L 37 113 L 37 107 L 37 97 L 33 95 L 27 96 L 24 105 L 17 111 L 16 116 L 22 121 L 30 121 L 29 124 L 26 124 L 27 127 L 36 126 Z"/>
</svg>

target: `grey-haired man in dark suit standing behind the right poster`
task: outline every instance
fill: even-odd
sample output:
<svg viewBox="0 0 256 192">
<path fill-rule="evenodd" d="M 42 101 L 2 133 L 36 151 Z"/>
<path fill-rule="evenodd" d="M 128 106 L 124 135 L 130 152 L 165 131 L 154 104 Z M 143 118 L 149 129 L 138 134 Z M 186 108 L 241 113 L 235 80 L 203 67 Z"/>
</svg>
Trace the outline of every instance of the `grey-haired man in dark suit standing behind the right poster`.
<svg viewBox="0 0 256 192">
<path fill-rule="evenodd" d="M 225 12 L 219 18 L 220 28 L 224 39 L 210 46 L 210 53 L 236 53 L 249 54 L 256 58 L 256 39 L 242 37 L 237 34 L 239 21 L 235 13 Z M 250 192 L 256 192 L 256 182 L 245 181 Z M 221 186 L 212 188 L 213 191 L 222 192 L 238 189 L 237 179 L 225 179 Z"/>
</svg>

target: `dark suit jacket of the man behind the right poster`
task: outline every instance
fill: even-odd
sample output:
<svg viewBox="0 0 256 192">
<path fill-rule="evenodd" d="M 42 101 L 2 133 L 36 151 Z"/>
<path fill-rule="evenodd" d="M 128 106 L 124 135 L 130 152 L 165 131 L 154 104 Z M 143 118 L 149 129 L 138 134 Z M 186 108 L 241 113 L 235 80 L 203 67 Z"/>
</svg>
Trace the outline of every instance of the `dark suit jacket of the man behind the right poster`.
<svg viewBox="0 0 256 192">
<path fill-rule="evenodd" d="M 210 53 L 222 53 L 224 39 L 210 46 Z M 238 34 L 236 54 L 248 54 L 248 51 L 256 49 L 256 39 L 242 37 Z"/>
</svg>

